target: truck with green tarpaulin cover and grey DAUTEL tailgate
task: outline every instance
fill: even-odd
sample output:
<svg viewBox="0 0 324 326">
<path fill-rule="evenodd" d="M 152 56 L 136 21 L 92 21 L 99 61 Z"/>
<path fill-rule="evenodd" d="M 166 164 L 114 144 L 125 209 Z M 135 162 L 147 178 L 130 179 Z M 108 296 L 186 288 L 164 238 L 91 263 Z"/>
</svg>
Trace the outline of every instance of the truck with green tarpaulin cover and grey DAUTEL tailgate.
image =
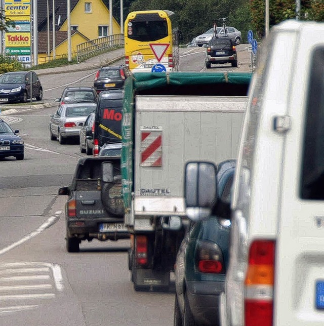
<svg viewBox="0 0 324 326">
<path fill-rule="evenodd" d="M 122 184 L 136 291 L 166 291 L 189 220 L 190 160 L 235 158 L 252 74 L 134 73 L 125 82 Z"/>
</svg>

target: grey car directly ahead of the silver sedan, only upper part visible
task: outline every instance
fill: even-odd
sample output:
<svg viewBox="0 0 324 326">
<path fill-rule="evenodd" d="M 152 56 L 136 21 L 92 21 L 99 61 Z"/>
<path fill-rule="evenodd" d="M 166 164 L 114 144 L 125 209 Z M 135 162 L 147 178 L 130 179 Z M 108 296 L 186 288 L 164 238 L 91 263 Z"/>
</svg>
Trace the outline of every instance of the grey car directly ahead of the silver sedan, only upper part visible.
<svg viewBox="0 0 324 326">
<path fill-rule="evenodd" d="M 59 105 L 68 103 L 92 102 L 97 103 L 98 95 L 93 87 L 79 86 L 66 87 L 60 98 L 54 99 L 55 102 L 60 102 Z"/>
</svg>

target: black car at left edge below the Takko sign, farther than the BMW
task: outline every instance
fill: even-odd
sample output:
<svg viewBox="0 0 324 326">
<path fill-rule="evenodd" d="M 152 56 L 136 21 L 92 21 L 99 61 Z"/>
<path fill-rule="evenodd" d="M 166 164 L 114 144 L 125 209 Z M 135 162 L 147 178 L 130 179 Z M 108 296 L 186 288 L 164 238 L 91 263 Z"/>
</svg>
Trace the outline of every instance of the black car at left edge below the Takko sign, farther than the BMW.
<svg viewBox="0 0 324 326">
<path fill-rule="evenodd" d="M 30 98 L 37 101 L 43 98 L 41 80 L 34 71 L 6 72 L 0 76 L 0 102 L 26 103 Z"/>
</svg>

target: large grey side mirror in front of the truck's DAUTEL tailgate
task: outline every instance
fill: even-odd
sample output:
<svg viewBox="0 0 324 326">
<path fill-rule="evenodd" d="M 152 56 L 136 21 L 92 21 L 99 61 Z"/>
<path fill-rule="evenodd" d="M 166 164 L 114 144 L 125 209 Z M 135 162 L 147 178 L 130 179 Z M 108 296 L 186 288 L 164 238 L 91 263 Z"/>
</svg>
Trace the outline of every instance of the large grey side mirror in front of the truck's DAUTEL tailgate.
<svg viewBox="0 0 324 326">
<path fill-rule="evenodd" d="M 217 168 L 212 162 L 188 162 L 185 166 L 186 215 L 192 221 L 208 218 L 217 202 Z"/>
</svg>

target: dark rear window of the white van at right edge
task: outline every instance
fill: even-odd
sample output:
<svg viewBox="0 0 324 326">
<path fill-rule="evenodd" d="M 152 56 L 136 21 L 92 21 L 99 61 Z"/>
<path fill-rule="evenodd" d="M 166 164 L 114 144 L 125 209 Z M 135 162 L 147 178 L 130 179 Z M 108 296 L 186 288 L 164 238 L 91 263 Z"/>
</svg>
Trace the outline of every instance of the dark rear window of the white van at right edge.
<svg viewBox="0 0 324 326">
<path fill-rule="evenodd" d="M 324 48 L 315 49 L 303 144 L 301 198 L 324 200 Z"/>
</svg>

